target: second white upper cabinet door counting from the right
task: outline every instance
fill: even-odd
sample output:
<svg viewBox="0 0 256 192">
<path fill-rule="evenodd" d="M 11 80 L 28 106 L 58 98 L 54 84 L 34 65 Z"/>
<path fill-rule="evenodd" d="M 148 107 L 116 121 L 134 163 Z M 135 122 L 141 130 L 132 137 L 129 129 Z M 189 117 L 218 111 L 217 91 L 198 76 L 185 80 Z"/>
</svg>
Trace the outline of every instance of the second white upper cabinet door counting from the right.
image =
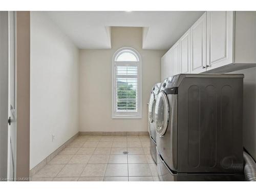
<svg viewBox="0 0 256 192">
<path fill-rule="evenodd" d="M 190 28 L 191 73 L 206 71 L 206 12 Z"/>
</svg>

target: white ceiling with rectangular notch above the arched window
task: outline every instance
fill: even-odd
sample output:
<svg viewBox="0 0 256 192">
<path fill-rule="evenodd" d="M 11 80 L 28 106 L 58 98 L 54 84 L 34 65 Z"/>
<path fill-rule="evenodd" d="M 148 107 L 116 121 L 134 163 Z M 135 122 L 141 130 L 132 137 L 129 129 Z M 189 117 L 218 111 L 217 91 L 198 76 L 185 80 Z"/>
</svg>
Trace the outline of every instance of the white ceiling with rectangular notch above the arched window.
<svg viewBox="0 0 256 192">
<path fill-rule="evenodd" d="M 143 49 L 169 49 L 204 11 L 47 11 L 80 49 L 110 49 L 111 27 L 143 27 Z"/>
</svg>

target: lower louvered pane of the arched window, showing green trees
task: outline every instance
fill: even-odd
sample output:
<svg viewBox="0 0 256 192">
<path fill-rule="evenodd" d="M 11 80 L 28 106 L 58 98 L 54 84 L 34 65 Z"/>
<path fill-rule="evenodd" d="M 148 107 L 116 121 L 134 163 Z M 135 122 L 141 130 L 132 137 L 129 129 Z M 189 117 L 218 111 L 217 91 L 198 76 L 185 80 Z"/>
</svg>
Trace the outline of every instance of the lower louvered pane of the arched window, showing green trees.
<svg viewBox="0 0 256 192">
<path fill-rule="evenodd" d="M 137 78 L 116 78 L 116 111 L 137 112 Z"/>
</svg>

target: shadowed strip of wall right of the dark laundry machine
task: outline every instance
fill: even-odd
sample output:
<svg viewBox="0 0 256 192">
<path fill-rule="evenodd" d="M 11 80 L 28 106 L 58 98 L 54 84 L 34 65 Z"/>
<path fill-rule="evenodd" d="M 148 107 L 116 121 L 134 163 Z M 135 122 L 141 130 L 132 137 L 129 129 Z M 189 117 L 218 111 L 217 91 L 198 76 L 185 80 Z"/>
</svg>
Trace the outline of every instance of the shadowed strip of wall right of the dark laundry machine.
<svg viewBox="0 0 256 192">
<path fill-rule="evenodd" d="M 256 67 L 232 73 L 244 74 L 243 143 L 256 160 Z"/>
</svg>

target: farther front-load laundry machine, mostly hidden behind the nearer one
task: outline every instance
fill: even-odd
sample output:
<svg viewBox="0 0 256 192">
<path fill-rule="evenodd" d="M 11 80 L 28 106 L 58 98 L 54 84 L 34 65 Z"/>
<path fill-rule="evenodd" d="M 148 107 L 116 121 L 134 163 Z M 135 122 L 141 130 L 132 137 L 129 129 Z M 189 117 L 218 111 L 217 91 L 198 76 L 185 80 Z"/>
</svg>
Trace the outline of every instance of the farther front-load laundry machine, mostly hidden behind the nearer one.
<svg viewBox="0 0 256 192">
<path fill-rule="evenodd" d="M 154 111 L 158 93 L 160 91 L 161 83 L 155 84 L 152 88 L 150 95 L 150 102 L 148 103 L 148 133 L 150 133 L 150 153 L 157 163 L 157 152 L 156 152 L 156 128 L 154 124 Z"/>
</svg>

